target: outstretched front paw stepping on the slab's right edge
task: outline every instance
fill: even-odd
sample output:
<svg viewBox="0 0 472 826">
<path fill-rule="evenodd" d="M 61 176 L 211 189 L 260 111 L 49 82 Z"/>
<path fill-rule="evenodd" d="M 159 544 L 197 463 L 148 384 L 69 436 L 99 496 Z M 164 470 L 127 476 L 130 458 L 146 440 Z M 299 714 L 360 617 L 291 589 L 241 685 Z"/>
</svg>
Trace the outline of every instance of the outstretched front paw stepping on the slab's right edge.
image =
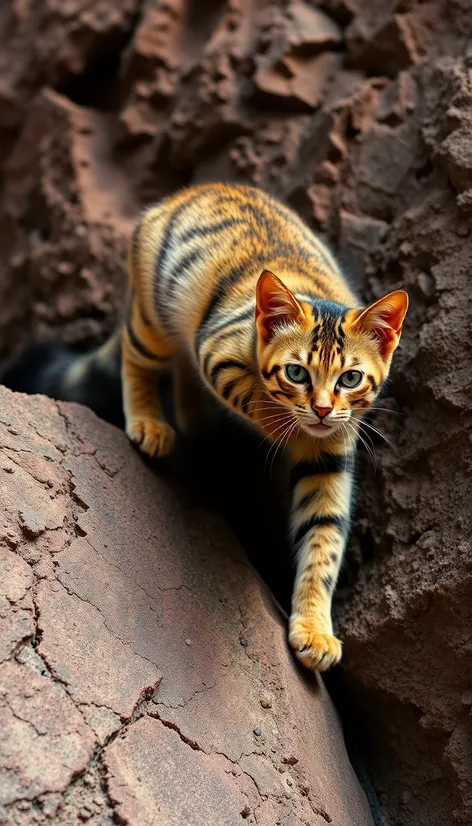
<svg viewBox="0 0 472 826">
<path fill-rule="evenodd" d="M 288 639 L 300 662 L 311 671 L 327 671 L 341 659 L 341 642 L 320 631 L 313 620 L 291 617 Z"/>
</svg>

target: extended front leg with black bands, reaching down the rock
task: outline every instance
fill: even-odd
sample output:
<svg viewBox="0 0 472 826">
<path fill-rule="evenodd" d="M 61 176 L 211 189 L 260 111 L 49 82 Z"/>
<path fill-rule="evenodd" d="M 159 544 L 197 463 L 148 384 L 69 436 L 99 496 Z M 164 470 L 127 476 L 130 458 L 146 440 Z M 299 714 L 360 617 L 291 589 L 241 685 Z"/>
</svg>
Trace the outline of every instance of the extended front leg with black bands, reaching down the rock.
<svg viewBox="0 0 472 826">
<path fill-rule="evenodd" d="M 320 454 L 292 469 L 292 540 L 297 571 L 289 641 L 299 660 L 325 671 L 341 659 L 331 602 L 351 507 L 350 456 Z"/>
</svg>

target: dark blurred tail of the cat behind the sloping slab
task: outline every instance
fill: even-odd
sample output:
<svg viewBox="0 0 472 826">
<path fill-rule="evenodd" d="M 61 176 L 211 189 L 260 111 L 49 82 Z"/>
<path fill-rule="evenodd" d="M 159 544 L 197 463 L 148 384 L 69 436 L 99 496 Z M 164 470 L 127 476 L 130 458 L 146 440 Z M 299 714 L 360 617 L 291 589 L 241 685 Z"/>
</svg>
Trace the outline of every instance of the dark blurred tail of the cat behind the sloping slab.
<svg viewBox="0 0 472 826">
<path fill-rule="evenodd" d="M 33 344 L 0 372 L 0 384 L 85 404 L 100 418 L 122 427 L 121 331 L 89 353 L 53 342 Z"/>
</svg>

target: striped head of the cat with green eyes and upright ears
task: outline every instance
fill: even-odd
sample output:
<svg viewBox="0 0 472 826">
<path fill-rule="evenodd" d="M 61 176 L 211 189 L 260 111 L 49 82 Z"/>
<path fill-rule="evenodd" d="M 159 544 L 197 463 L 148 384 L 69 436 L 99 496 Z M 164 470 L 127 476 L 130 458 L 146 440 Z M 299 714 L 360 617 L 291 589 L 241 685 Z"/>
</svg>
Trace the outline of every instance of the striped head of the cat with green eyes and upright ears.
<svg viewBox="0 0 472 826">
<path fill-rule="evenodd" d="M 349 431 L 349 420 L 365 413 L 387 378 L 407 309 L 403 290 L 364 309 L 308 303 L 265 270 L 257 284 L 256 327 L 267 395 L 315 438 Z"/>
</svg>

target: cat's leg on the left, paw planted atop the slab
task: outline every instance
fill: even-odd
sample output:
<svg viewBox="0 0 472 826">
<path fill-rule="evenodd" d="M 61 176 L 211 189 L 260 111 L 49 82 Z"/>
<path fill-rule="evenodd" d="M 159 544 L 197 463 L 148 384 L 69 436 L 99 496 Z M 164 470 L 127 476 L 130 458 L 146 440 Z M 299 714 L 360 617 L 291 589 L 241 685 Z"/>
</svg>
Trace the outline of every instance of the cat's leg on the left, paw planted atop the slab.
<svg viewBox="0 0 472 826">
<path fill-rule="evenodd" d="M 122 331 L 123 410 L 129 439 L 148 456 L 167 456 L 174 448 L 175 431 L 164 419 L 158 387 L 172 357 L 172 344 L 135 299 Z"/>
</svg>

